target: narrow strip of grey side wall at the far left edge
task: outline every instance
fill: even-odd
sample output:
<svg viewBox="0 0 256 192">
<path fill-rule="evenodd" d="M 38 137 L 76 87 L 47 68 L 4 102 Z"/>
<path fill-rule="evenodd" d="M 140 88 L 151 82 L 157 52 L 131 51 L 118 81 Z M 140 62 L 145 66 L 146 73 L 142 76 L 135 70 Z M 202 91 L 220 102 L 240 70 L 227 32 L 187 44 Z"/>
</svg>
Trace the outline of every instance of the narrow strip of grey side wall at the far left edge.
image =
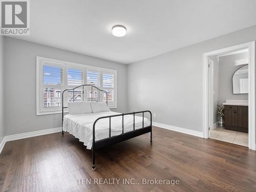
<svg viewBox="0 0 256 192">
<path fill-rule="evenodd" d="M 0 143 L 4 138 L 4 36 L 0 36 Z"/>
</svg>

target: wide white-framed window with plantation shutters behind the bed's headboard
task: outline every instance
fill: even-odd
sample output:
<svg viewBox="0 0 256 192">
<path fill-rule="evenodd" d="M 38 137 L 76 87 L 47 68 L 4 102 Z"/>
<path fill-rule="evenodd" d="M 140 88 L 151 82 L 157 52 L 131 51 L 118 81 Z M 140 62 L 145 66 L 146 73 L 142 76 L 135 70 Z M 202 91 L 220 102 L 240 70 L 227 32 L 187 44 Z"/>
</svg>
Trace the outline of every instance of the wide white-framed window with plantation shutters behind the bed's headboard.
<svg viewBox="0 0 256 192">
<path fill-rule="evenodd" d="M 36 57 L 36 114 L 61 113 L 62 92 L 82 84 L 91 84 L 108 94 L 108 106 L 116 108 L 117 71 L 81 65 L 56 59 Z M 83 94 L 84 91 L 84 94 Z M 63 95 L 67 102 L 106 102 L 106 93 L 98 89 L 84 87 L 67 91 Z"/>
</svg>

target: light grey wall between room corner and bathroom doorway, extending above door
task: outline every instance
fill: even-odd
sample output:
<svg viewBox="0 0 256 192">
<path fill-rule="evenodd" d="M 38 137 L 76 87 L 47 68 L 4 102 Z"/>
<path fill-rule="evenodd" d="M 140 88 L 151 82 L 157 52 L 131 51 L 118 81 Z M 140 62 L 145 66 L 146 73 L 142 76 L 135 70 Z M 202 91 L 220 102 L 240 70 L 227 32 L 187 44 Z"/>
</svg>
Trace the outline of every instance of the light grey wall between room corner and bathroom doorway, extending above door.
<svg viewBox="0 0 256 192">
<path fill-rule="evenodd" d="M 256 26 L 132 63 L 127 70 L 131 111 L 153 121 L 203 132 L 203 53 L 256 39 Z"/>
</svg>

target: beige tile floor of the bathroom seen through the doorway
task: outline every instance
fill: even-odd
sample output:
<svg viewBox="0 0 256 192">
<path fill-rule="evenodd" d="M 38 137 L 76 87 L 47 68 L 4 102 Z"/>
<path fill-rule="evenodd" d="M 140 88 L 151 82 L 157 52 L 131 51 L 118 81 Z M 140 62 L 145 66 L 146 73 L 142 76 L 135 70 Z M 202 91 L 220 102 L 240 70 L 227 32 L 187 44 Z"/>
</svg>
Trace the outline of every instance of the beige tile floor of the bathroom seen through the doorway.
<svg viewBox="0 0 256 192">
<path fill-rule="evenodd" d="M 209 130 L 209 138 L 248 147 L 248 133 L 225 130 L 225 127 Z"/>
</svg>

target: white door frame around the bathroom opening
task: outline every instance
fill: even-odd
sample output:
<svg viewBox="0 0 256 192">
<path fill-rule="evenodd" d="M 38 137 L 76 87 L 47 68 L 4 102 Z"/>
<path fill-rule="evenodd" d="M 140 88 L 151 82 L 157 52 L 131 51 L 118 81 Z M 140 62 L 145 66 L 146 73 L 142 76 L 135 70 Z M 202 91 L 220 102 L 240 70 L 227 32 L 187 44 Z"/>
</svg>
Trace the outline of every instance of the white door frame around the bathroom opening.
<svg viewBox="0 0 256 192">
<path fill-rule="evenodd" d="M 255 41 L 246 42 L 244 44 L 231 46 L 203 53 L 203 137 L 209 138 L 209 110 L 210 103 L 213 103 L 212 89 L 210 89 L 211 80 L 209 79 L 209 57 L 219 54 L 230 53 L 248 49 L 248 147 L 255 150 Z M 211 112 L 212 113 L 212 112 Z"/>
</svg>

